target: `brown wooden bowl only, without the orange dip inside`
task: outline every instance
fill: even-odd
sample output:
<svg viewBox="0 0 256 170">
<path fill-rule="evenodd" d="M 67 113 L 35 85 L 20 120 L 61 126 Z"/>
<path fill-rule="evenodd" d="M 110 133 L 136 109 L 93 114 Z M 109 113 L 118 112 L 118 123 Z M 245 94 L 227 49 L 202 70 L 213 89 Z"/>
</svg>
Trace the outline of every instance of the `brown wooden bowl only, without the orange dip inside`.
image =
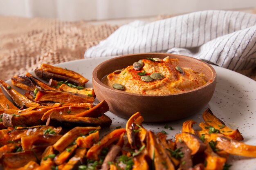
<svg viewBox="0 0 256 170">
<path fill-rule="evenodd" d="M 116 90 L 101 82 L 102 78 L 115 70 L 126 68 L 146 57 L 178 58 L 179 66 L 203 72 L 207 84 L 191 91 L 170 95 L 144 95 Z M 140 112 L 145 122 L 162 122 L 182 119 L 202 110 L 210 101 L 216 86 L 216 71 L 201 60 L 169 53 L 140 53 L 115 57 L 99 64 L 92 73 L 92 85 L 101 102 L 105 100 L 110 111 L 128 119 Z"/>
</svg>

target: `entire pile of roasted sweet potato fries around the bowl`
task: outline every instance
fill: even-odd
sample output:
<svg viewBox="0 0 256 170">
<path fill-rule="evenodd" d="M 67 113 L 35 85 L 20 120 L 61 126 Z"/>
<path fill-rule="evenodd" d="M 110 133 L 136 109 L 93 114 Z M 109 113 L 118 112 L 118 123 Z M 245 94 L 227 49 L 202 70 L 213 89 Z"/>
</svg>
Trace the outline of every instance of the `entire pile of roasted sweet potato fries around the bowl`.
<svg viewBox="0 0 256 170">
<path fill-rule="evenodd" d="M 126 128 L 102 134 L 111 119 L 108 104 L 93 106 L 95 94 L 78 73 L 43 64 L 36 75 L 12 77 L 21 95 L 0 81 L 0 162 L 4 170 L 228 170 L 229 155 L 256 157 L 239 130 L 227 127 L 209 108 L 194 130 L 183 123 L 175 141 L 146 130 L 140 113 Z"/>
</svg>

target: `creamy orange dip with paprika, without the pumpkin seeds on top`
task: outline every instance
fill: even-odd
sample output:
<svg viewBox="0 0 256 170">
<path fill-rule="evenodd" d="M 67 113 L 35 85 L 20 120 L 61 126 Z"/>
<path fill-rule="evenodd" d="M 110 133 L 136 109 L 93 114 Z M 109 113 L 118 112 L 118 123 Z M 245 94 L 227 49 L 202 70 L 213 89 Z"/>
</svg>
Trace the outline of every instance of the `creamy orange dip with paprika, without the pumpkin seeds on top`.
<svg viewBox="0 0 256 170">
<path fill-rule="evenodd" d="M 121 84 L 125 86 L 126 92 L 148 95 L 180 93 L 206 84 L 203 73 L 193 71 L 191 68 L 182 68 L 184 73 L 177 71 L 175 66 L 178 66 L 178 59 L 168 58 L 159 62 L 147 59 L 141 61 L 144 66 L 140 70 L 136 71 L 133 66 L 128 66 L 121 73 L 110 73 L 103 83 L 110 87 L 116 83 Z M 146 71 L 145 75 L 162 73 L 164 78 L 145 82 L 141 79 L 141 75 L 137 75 L 144 71 Z"/>
</svg>

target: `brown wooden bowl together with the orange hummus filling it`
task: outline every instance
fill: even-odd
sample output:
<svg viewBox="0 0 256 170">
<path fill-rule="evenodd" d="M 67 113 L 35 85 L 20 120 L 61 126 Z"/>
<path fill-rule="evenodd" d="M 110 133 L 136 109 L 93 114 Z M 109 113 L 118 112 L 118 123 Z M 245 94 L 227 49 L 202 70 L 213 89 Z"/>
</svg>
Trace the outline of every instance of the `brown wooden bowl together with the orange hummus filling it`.
<svg viewBox="0 0 256 170">
<path fill-rule="evenodd" d="M 161 60 L 152 62 L 148 57 Z M 140 60 L 143 66 L 134 64 Z M 115 115 L 128 119 L 140 112 L 145 122 L 172 121 L 205 110 L 215 90 L 216 71 L 210 64 L 184 55 L 130 54 L 96 66 L 92 85 L 99 102 L 105 100 Z"/>
</svg>

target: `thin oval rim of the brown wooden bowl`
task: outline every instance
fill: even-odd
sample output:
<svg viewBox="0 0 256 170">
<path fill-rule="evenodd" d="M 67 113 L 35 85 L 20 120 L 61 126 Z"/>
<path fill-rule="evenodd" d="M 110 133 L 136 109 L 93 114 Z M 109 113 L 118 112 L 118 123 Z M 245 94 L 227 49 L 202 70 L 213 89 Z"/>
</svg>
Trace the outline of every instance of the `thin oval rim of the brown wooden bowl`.
<svg viewBox="0 0 256 170">
<path fill-rule="evenodd" d="M 111 88 L 110 86 L 107 86 L 106 84 L 101 82 L 101 80 L 97 77 L 98 68 L 100 68 L 103 64 L 108 63 L 109 61 L 116 60 L 116 59 L 122 58 L 122 57 L 130 57 L 130 56 L 133 56 L 133 55 L 156 55 L 156 54 L 176 55 L 176 56 L 182 56 L 182 57 L 185 57 L 185 58 L 188 57 L 188 58 L 193 59 L 193 60 L 198 60 L 199 62 L 202 62 L 203 64 L 206 64 L 211 69 L 213 75 L 212 75 L 211 79 L 209 79 L 209 81 L 206 84 L 204 84 L 203 86 L 200 86 L 198 88 L 195 88 L 195 89 L 192 89 L 192 90 L 189 90 L 189 91 L 180 92 L 180 93 L 159 94 L 159 95 L 130 93 L 130 92 L 126 92 L 126 91 L 117 90 L 117 89 Z M 108 91 L 112 91 L 113 93 L 120 93 L 120 94 L 123 94 L 123 95 L 145 96 L 145 97 L 167 97 L 167 96 L 176 96 L 176 95 L 187 95 L 189 93 L 194 93 L 195 91 L 201 90 L 201 89 L 215 83 L 216 82 L 216 75 L 217 75 L 217 73 L 216 73 L 216 70 L 213 68 L 213 66 L 211 66 L 207 62 L 204 62 L 204 61 L 199 60 L 197 58 L 189 57 L 189 56 L 186 56 L 186 55 L 171 54 L 171 53 L 134 53 L 134 54 L 128 54 L 128 55 L 121 55 L 121 56 L 118 56 L 118 57 L 113 57 L 113 58 L 110 58 L 110 59 L 100 63 L 99 65 L 97 65 L 94 68 L 94 70 L 92 71 L 92 82 L 95 81 L 97 84 L 99 84 L 99 86 L 101 86 L 100 88 L 106 88 Z"/>
</svg>

